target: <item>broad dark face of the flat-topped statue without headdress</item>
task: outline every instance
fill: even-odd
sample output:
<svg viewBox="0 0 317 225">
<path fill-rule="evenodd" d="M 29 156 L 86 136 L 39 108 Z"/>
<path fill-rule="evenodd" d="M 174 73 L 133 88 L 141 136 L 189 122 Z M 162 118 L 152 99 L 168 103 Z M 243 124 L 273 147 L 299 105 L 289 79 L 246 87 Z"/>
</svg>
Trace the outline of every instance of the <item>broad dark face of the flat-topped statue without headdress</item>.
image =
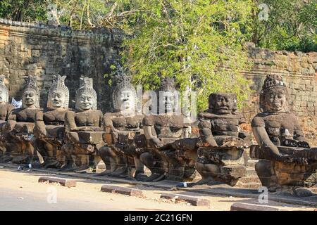
<svg viewBox="0 0 317 225">
<path fill-rule="evenodd" d="M 209 108 L 213 108 L 218 113 L 228 113 L 235 108 L 237 100 L 233 96 L 217 94 L 216 99 L 209 102 Z"/>
</svg>

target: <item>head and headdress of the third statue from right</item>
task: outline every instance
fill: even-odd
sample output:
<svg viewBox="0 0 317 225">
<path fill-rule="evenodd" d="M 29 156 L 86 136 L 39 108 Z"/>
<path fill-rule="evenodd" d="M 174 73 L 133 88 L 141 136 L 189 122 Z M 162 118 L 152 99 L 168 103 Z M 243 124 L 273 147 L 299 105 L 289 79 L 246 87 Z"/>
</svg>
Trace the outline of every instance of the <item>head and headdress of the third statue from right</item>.
<svg viewBox="0 0 317 225">
<path fill-rule="evenodd" d="M 163 77 L 159 88 L 159 107 L 163 107 L 165 113 L 173 113 L 177 104 L 175 94 L 176 89 L 174 79 L 170 77 Z"/>
</svg>

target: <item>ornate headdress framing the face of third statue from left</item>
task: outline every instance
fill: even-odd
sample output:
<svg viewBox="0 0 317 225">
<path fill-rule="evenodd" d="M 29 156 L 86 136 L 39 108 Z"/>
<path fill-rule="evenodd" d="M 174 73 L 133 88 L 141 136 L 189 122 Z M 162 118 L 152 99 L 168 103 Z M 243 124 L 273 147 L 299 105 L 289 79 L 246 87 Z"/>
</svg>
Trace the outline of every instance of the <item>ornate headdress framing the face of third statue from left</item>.
<svg viewBox="0 0 317 225">
<path fill-rule="evenodd" d="M 68 90 L 68 87 L 65 85 L 65 79 L 66 79 L 66 76 L 54 75 L 53 84 L 52 84 L 51 88 L 49 89 L 49 98 L 47 101 L 48 108 L 53 107 L 51 104 L 51 98 L 52 98 L 53 91 L 55 91 L 55 90 L 63 91 L 63 94 L 65 96 L 65 102 L 64 102 L 63 108 L 68 108 L 69 90 Z"/>
</svg>

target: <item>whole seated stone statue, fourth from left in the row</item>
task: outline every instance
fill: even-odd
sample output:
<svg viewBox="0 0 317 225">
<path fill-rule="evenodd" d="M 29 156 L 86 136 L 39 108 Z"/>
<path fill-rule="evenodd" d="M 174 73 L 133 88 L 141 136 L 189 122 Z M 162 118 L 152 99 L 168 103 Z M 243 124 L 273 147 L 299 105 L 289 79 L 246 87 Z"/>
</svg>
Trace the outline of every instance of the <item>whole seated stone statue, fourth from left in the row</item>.
<svg viewBox="0 0 317 225">
<path fill-rule="evenodd" d="M 97 149 L 104 146 L 102 117 L 102 112 L 97 110 L 92 78 L 80 77 L 75 111 L 67 111 L 65 115 L 66 144 L 62 153 L 66 164 L 62 169 L 82 170 L 97 163 Z"/>
</svg>

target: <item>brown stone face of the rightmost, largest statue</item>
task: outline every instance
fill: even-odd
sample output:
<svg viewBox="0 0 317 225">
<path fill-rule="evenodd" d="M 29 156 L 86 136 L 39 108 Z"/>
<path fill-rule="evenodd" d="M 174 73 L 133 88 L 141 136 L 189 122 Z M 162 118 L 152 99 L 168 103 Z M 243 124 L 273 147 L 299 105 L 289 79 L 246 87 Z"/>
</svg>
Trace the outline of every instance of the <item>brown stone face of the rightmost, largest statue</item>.
<svg viewBox="0 0 317 225">
<path fill-rule="evenodd" d="M 269 91 L 265 96 L 266 111 L 280 112 L 285 109 L 287 100 L 282 91 Z"/>
</svg>

